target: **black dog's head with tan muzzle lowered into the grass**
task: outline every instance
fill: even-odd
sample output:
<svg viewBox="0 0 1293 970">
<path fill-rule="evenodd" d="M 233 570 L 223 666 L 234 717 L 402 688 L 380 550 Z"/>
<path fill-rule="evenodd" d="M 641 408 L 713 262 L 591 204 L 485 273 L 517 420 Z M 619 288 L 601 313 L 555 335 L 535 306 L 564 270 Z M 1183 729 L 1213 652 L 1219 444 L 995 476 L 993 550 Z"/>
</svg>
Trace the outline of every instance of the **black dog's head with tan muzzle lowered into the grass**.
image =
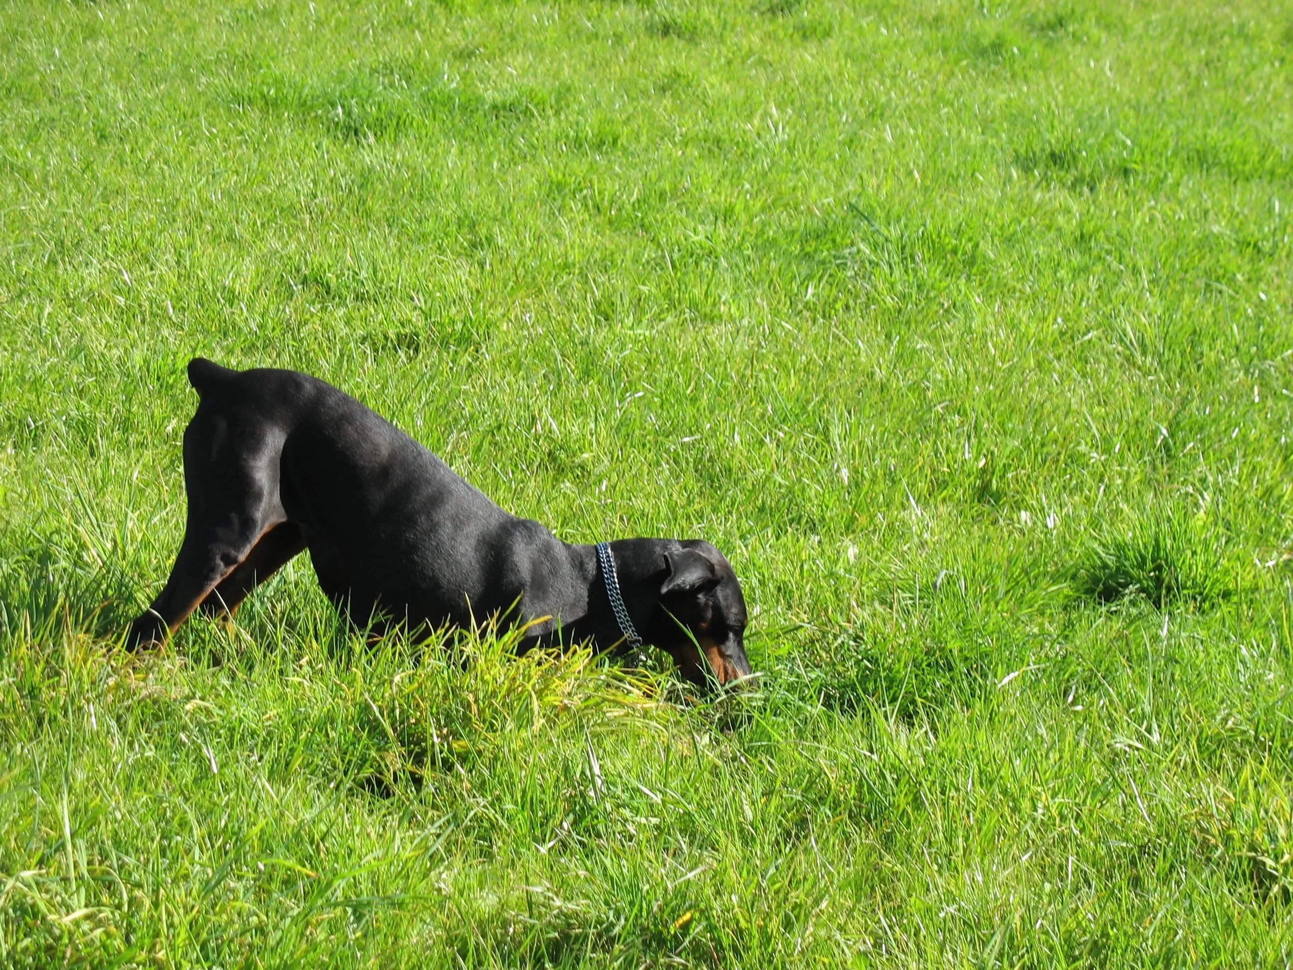
<svg viewBox="0 0 1293 970">
<path fill-rule="evenodd" d="M 723 554 L 707 542 L 683 542 L 665 554 L 661 576 L 646 640 L 668 652 L 694 684 L 747 676 L 745 596 Z"/>
</svg>

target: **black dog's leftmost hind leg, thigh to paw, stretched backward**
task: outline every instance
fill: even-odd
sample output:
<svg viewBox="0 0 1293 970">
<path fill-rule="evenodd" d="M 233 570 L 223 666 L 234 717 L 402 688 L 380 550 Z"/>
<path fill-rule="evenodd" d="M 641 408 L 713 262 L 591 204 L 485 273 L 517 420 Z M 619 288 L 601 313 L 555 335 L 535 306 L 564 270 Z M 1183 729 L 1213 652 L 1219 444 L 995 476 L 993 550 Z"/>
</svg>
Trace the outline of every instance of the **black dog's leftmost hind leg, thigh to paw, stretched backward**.
<svg viewBox="0 0 1293 970">
<path fill-rule="evenodd" d="M 166 640 L 287 519 L 278 495 L 281 453 L 277 428 L 206 400 L 198 406 L 184 433 L 184 542 L 166 587 L 131 625 L 127 647 Z"/>
</svg>

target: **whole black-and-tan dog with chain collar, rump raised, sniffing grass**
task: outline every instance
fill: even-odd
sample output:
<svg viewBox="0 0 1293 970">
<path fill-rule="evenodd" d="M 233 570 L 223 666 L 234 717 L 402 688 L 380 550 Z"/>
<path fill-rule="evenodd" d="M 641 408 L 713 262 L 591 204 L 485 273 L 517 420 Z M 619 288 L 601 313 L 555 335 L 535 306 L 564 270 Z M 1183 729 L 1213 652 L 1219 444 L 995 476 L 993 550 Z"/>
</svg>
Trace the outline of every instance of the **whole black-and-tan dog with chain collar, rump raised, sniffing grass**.
<svg viewBox="0 0 1293 970">
<path fill-rule="evenodd" d="M 361 626 L 498 617 L 525 627 L 525 649 L 645 641 L 696 683 L 706 669 L 720 684 L 750 673 L 741 586 L 710 543 L 570 546 L 322 380 L 199 357 L 189 383 L 200 402 L 184 432 L 184 543 L 129 645 L 163 641 L 194 609 L 233 613 L 309 550 L 323 591 Z"/>
</svg>

